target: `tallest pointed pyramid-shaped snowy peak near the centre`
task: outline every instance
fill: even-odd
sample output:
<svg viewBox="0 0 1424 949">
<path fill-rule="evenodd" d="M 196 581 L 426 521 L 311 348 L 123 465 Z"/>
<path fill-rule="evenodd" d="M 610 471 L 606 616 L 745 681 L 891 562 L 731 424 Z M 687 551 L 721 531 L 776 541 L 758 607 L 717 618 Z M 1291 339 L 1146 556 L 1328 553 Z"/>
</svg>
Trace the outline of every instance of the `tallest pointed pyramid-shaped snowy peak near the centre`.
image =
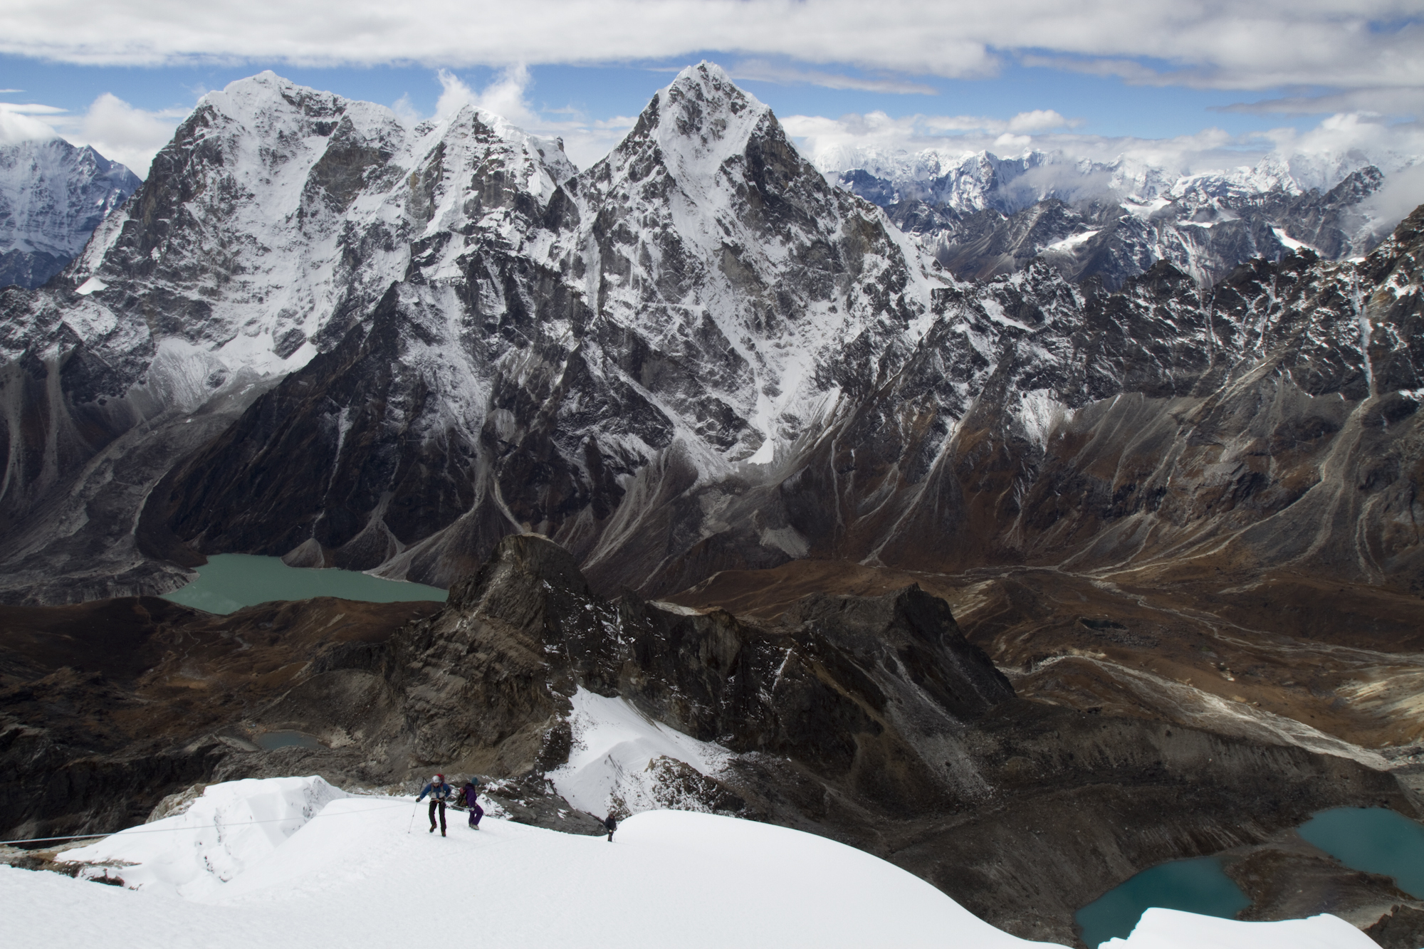
<svg viewBox="0 0 1424 949">
<path fill-rule="evenodd" d="M 726 460 L 770 462 L 826 405 L 824 353 L 857 338 L 880 352 L 930 305 L 928 261 L 711 63 L 659 91 L 571 194 L 580 229 L 554 258 L 676 365 L 662 408 Z"/>
</svg>

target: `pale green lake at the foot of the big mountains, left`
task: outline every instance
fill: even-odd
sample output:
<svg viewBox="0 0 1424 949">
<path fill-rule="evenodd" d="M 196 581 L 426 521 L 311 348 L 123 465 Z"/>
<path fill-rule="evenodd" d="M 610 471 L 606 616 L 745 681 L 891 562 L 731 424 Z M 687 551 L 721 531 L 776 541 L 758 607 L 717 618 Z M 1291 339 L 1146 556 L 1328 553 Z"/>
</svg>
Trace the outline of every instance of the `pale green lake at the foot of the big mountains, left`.
<svg viewBox="0 0 1424 949">
<path fill-rule="evenodd" d="M 308 570 L 289 567 L 281 557 L 252 554 L 215 554 L 198 567 L 198 579 L 164 594 L 165 600 L 206 610 L 232 613 L 269 600 L 309 600 L 340 597 L 367 603 L 436 600 L 444 603 L 446 591 L 420 583 L 383 580 L 355 570 Z"/>
</svg>

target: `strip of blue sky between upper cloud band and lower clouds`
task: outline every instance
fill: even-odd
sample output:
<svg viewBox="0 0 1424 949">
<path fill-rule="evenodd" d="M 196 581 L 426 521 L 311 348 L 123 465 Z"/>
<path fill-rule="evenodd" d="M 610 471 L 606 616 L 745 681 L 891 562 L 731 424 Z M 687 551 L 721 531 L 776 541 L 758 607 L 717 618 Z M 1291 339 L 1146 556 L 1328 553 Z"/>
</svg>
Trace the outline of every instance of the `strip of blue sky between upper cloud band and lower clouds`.
<svg viewBox="0 0 1424 949">
<path fill-rule="evenodd" d="M 740 57 L 699 51 L 679 60 L 609 66 L 533 66 L 528 98 L 545 113 L 577 108 L 608 118 L 637 114 L 671 74 L 699 58 L 721 61 L 732 68 Z M 424 114 L 434 111 L 441 85 L 436 68 L 427 66 L 370 66 L 313 68 L 281 61 L 248 61 L 204 66 L 75 66 L 46 63 L 20 56 L 0 56 L 0 88 L 23 90 L 0 98 L 13 103 L 44 103 L 74 114 L 88 108 L 100 94 L 111 93 L 142 110 L 188 110 L 198 95 L 212 88 L 271 68 L 303 85 L 323 88 L 347 98 L 386 105 L 402 97 Z M 496 67 L 451 70 L 474 88 L 496 78 Z M 843 70 L 863 77 L 859 70 Z M 921 85 L 934 94 L 886 93 L 854 88 L 826 88 L 806 81 L 766 81 L 738 77 L 739 84 L 772 105 L 778 114 L 843 115 L 881 110 L 893 117 L 924 114 L 974 114 L 1010 118 L 1035 108 L 1052 108 L 1084 120 L 1081 131 L 1098 135 L 1165 138 L 1190 134 L 1205 125 L 1219 125 L 1240 134 L 1262 128 L 1260 115 L 1225 113 L 1223 107 L 1279 97 L 1286 90 L 1203 90 L 1186 87 L 1129 85 L 1116 77 L 1067 73 L 1047 67 L 1010 64 L 987 78 L 904 77 L 906 85 Z M 1302 131 L 1314 125 L 1329 110 L 1307 115 L 1276 115 L 1269 123 Z"/>
</svg>

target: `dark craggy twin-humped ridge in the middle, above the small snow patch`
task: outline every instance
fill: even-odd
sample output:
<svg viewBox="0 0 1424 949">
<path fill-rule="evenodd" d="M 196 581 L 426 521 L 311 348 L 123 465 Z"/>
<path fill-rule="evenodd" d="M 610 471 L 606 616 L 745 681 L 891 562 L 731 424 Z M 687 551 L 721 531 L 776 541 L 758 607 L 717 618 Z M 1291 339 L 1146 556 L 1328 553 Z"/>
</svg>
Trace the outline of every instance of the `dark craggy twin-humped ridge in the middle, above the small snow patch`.
<svg viewBox="0 0 1424 949">
<path fill-rule="evenodd" d="M 390 675 L 412 697 L 404 715 L 426 761 L 550 771 L 568 752 L 558 722 L 581 685 L 693 738 L 795 759 L 899 811 L 963 779 L 917 741 L 943 741 L 1012 695 L 944 603 L 914 588 L 815 600 L 792 626 L 763 630 L 634 594 L 597 597 L 567 551 L 533 536 L 501 541 L 444 611 L 392 645 Z"/>
</svg>

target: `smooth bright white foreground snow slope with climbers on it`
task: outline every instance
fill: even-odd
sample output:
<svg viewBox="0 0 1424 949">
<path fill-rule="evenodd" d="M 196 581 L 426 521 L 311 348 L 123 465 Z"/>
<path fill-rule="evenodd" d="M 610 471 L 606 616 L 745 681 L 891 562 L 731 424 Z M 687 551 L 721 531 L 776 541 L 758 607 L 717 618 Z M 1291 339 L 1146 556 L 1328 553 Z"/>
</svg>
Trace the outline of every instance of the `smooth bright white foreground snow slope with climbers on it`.
<svg viewBox="0 0 1424 949">
<path fill-rule="evenodd" d="M 293 808 L 305 815 L 329 788 L 320 778 L 241 781 L 212 785 L 204 799 L 211 798 L 209 818 L 275 808 L 288 821 Z M 652 811 L 625 821 L 609 845 L 598 836 L 494 818 L 476 832 L 451 812 L 450 836 L 440 838 L 423 832 L 419 816 L 416 831 L 409 831 L 414 807 L 409 798 L 332 798 L 231 881 L 188 899 L 158 885 L 132 892 L 0 866 L 6 936 L 14 945 L 219 949 L 420 945 L 451 938 L 491 946 L 618 949 L 1049 945 L 990 926 L 879 858 L 786 828 Z M 221 846 L 184 829 L 165 834 L 158 824 L 97 846 L 110 861 L 142 859 L 122 868 L 138 878 L 150 864 L 255 854 L 275 839 L 268 824 L 231 821 L 221 831 Z M 75 854 L 81 851 L 70 852 Z M 1333 916 L 1237 923 L 1168 911 L 1149 912 L 1129 939 L 1109 945 L 1176 949 L 1247 940 L 1252 949 L 1373 945 Z"/>
</svg>

